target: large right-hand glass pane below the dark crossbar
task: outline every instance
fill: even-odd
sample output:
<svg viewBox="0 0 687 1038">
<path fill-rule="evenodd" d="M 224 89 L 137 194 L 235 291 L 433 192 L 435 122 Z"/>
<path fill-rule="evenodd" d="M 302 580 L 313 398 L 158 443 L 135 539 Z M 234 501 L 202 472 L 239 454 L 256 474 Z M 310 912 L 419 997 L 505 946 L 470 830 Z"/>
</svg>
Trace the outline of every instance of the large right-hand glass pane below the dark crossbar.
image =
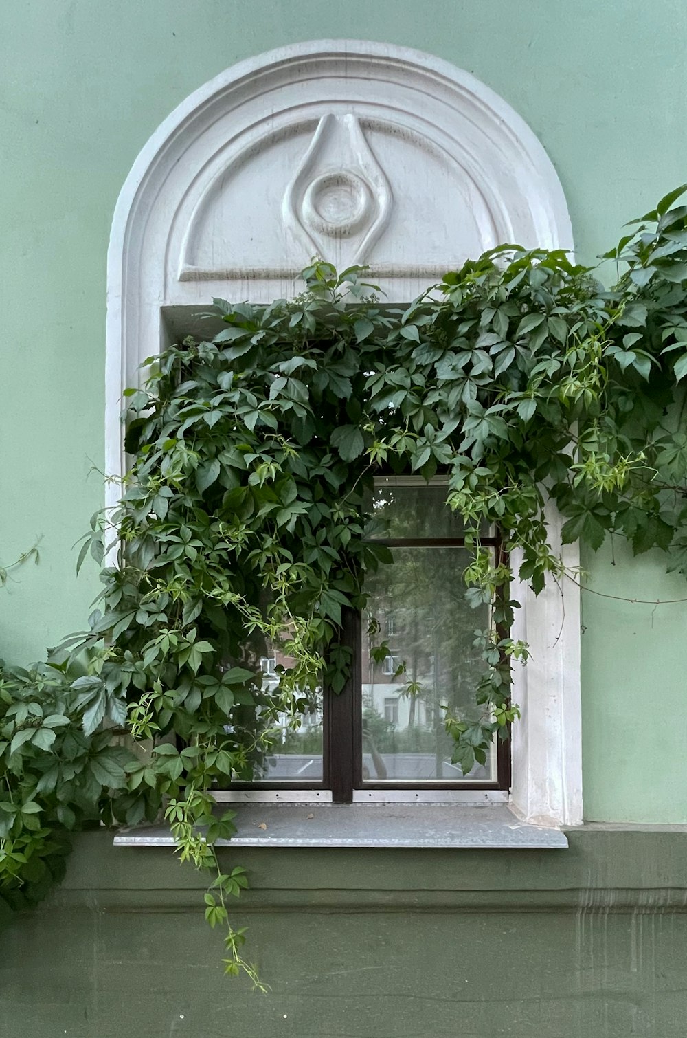
<svg viewBox="0 0 687 1038">
<path fill-rule="evenodd" d="M 444 731 L 447 706 L 476 719 L 474 689 L 484 663 L 474 631 L 489 627 L 489 606 L 465 601 L 464 548 L 393 548 L 393 563 L 367 578 L 363 617 L 363 780 L 414 781 L 465 777 L 450 763 L 452 739 Z M 368 633 L 372 632 L 372 633 Z M 380 652 L 381 646 L 386 651 Z M 469 777 L 496 777 L 495 754 Z"/>
</svg>

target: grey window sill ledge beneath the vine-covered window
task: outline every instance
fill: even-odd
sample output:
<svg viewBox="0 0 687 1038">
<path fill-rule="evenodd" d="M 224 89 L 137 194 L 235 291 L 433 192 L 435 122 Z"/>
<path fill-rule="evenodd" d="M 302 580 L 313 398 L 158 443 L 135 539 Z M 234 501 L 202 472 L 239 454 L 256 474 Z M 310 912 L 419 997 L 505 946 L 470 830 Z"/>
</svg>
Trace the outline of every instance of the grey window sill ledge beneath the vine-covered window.
<svg viewBox="0 0 687 1038">
<path fill-rule="evenodd" d="M 237 834 L 218 846 L 560 849 L 556 828 L 522 822 L 505 804 L 237 804 Z M 116 847 L 173 847 L 166 825 L 119 829 Z"/>
</svg>

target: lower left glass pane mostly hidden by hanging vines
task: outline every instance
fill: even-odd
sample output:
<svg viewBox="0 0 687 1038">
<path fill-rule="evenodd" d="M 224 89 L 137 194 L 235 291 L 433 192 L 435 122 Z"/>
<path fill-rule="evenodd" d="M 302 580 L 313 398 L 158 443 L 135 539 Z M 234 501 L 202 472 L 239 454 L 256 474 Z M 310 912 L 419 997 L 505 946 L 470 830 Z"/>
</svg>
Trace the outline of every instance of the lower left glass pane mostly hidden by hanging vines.
<svg viewBox="0 0 687 1038">
<path fill-rule="evenodd" d="M 237 778 L 243 782 L 322 782 L 322 694 L 304 692 L 299 712 L 291 716 L 279 710 L 278 685 L 282 667 L 293 660 L 273 645 L 257 663 L 263 672 L 263 704 L 246 710 L 245 725 L 254 736 L 253 750 Z"/>
</svg>

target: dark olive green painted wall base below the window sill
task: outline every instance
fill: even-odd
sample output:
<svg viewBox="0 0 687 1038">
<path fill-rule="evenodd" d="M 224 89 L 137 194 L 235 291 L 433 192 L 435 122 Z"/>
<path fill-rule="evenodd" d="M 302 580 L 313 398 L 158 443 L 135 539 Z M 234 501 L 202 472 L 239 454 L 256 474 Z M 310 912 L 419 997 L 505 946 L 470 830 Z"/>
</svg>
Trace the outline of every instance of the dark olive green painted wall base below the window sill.
<svg viewBox="0 0 687 1038">
<path fill-rule="evenodd" d="M 272 985 L 223 978 L 192 869 L 82 836 L 0 940 L 0 1038 L 684 1038 L 687 830 L 561 851 L 238 850 Z"/>
</svg>

